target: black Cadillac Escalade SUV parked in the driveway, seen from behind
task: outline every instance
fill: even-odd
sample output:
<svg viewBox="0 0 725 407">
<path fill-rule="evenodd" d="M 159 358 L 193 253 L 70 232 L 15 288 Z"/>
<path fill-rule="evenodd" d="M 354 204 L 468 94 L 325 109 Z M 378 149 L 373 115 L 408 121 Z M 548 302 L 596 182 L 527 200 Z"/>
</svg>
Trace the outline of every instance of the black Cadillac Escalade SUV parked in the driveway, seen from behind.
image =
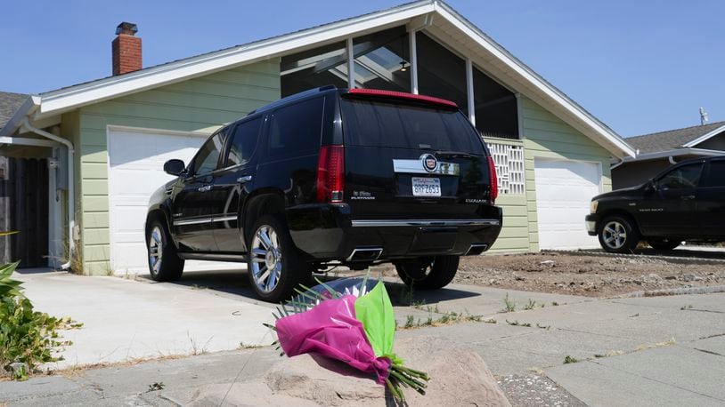
<svg viewBox="0 0 725 407">
<path fill-rule="evenodd" d="M 151 277 L 184 259 L 247 261 L 278 301 L 333 265 L 393 262 L 405 283 L 440 288 L 462 255 L 501 231 L 493 160 L 455 103 L 326 86 L 215 132 L 151 197 Z"/>
</svg>

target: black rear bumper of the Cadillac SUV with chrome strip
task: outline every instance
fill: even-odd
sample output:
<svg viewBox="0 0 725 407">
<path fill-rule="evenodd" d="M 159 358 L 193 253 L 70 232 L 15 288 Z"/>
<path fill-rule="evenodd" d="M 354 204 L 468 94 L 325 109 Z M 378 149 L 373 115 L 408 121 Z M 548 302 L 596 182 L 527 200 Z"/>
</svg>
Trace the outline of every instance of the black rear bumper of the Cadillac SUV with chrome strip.
<svg viewBox="0 0 725 407">
<path fill-rule="evenodd" d="M 287 219 L 292 240 L 309 257 L 370 261 L 478 254 L 501 232 L 501 208 L 485 212 L 476 219 L 353 219 L 344 203 L 313 204 L 289 208 Z"/>
</svg>

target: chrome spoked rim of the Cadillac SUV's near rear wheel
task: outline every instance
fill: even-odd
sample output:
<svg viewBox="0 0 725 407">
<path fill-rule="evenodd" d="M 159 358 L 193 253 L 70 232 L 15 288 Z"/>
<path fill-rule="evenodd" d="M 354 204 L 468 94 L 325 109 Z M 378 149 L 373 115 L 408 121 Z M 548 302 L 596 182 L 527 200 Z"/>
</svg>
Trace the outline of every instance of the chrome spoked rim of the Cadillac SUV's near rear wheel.
<svg viewBox="0 0 725 407">
<path fill-rule="evenodd" d="M 282 252 L 279 236 L 273 227 L 263 225 L 257 229 L 250 254 L 251 273 L 257 289 L 262 292 L 274 291 L 282 274 Z"/>
</svg>

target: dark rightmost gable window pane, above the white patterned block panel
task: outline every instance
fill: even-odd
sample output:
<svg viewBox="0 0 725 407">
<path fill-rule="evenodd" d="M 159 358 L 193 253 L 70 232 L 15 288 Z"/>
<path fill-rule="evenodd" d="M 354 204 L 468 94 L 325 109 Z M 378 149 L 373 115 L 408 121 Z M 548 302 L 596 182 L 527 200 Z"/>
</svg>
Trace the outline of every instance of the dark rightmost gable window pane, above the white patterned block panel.
<svg viewBox="0 0 725 407">
<path fill-rule="evenodd" d="M 473 68 L 476 128 L 484 137 L 518 139 L 516 95 L 478 68 Z"/>
</svg>

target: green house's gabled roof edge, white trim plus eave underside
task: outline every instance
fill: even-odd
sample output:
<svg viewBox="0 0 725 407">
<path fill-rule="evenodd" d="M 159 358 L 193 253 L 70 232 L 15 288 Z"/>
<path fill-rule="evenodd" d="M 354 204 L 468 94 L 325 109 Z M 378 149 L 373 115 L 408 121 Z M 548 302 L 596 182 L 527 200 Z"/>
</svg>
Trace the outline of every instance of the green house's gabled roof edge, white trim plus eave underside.
<svg viewBox="0 0 725 407">
<path fill-rule="evenodd" d="M 0 131 L 0 136 L 8 136 L 15 132 L 24 116 L 45 122 L 55 117 L 54 120 L 57 121 L 59 120 L 57 116 L 63 112 L 102 100 L 174 84 L 259 60 L 278 58 L 301 49 L 309 49 L 314 45 L 330 44 L 351 36 L 360 36 L 376 29 L 401 24 L 408 24 L 412 29 L 436 29 L 437 34 L 448 36 L 457 46 L 464 49 L 474 63 L 480 61 L 478 64 L 485 65 L 494 76 L 505 80 L 517 92 L 524 93 L 587 137 L 597 141 L 613 156 L 634 156 L 634 149 L 606 124 L 601 123 L 564 92 L 559 91 L 534 70 L 517 60 L 500 44 L 440 0 L 420 0 L 402 4 L 380 12 L 371 12 L 284 36 L 275 36 L 144 68 L 125 75 L 110 76 L 45 92 L 23 105 L 12 117 L 10 124 Z"/>
</svg>

